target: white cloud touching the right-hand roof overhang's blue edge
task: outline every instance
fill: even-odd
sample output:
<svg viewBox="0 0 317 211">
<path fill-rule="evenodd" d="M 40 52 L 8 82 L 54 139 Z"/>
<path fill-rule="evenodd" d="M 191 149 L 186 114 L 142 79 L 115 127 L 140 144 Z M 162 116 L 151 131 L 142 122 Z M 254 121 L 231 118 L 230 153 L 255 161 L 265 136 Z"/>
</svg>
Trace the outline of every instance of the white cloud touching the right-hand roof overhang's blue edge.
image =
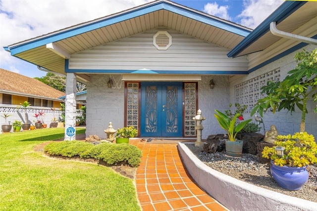
<svg viewBox="0 0 317 211">
<path fill-rule="evenodd" d="M 256 28 L 267 18 L 283 0 L 244 0 L 244 10 L 238 16 L 241 25 L 251 29 Z"/>
</svg>

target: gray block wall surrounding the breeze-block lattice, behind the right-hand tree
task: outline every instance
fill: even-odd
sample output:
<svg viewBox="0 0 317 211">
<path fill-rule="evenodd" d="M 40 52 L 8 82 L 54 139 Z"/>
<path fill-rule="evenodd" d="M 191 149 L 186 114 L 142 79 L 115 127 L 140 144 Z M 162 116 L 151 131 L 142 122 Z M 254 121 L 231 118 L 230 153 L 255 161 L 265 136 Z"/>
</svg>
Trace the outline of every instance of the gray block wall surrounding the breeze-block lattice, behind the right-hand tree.
<svg viewBox="0 0 317 211">
<path fill-rule="evenodd" d="M 308 45 L 304 47 L 304 49 L 309 52 L 315 48 L 316 45 Z M 264 67 L 252 72 L 247 76 L 234 77 L 232 80 L 230 80 L 230 102 L 235 102 L 234 86 L 236 84 L 240 84 L 241 82 L 247 81 L 276 68 L 280 68 L 280 80 L 284 80 L 284 78 L 287 76 L 287 72 L 296 67 L 294 55 L 299 51 L 301 51 L 301 49 L 292 52 L 274 62 L 271 62 L 270 64 L 265 65 Z M 317 114 L 314 113 L 314 103 L 312 100 L 308 102 L 307 110 L 309 113 L 306 114 L 306 131 L 317 137 Z M 252 118 L 254 119 L 254 116 Z M 266 130 L 268 130 L 271 125 L 275 125 L 280 134 L 293 134 L 300 130 L 301 111 L 297 109 L 292 113 L 292 115 L 290 112 L 287 112 L 287 110 L 276 112 L 275 114 L 267 112 L 264 114 L 263 120 Z M 262 133 L 263 132 L 264 131 L 262 129 Z"/>
</svg>

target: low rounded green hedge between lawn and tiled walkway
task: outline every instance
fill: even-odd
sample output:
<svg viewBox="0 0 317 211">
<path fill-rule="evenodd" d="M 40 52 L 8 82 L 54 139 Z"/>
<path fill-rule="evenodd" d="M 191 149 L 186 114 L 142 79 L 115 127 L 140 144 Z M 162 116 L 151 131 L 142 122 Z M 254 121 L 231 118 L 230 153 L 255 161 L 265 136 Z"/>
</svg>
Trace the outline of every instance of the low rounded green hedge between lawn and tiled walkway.
<svg viewBox="0 0 317 211">
<path fill-rule="evenodd" d="M 94 158 L 103 160 L 108 165 L 123 162 L 131 167 L 139 166 L 142 157 L 141 150 L 133 145 L 102 143 L 95 146 L 82 141 L 53 142 L 44 148 L 44 152 L 63 157 Z"/>
</svg>

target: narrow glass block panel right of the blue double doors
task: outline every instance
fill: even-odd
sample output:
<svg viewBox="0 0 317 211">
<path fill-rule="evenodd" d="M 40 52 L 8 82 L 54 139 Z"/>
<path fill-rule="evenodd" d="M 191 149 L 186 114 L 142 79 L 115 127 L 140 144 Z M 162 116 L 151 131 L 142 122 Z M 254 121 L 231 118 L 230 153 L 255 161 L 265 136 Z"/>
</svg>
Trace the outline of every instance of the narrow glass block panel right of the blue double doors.
<svg viewBox="0 0 317 211">
<path fill-rule="evenodd" d="M 185 83 L 184 135 L 196 136 L 196 83 Z"/>
</svg>

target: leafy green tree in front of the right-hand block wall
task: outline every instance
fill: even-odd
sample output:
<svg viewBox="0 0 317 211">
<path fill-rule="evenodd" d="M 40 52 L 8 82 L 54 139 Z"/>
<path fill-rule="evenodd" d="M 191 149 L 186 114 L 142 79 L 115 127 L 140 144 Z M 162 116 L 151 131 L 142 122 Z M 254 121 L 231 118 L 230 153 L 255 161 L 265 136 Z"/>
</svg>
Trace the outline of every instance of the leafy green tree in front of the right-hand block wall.
<svg viewBox="0 0 317 211">
<path fill-rule="evenodd" d="M 263 116 L 271 108 L 275 111 L 286 109 L 292 112 L 295 107 L 302 111 L 300 132 L 305 131 L 305 118 L 307 112 L 307 101 L 313 99 L 317 103 L 317 48 L 311 53 L 306 50 L 295 54 L 294 59 L 298 64 L 295 69 L 288 72 L 282 82 L 269 81 L 263 87 L 262 93 L 266 97 L 259 99 L 251 112 L 251 116 L 258 110 Z M 317 104 L 314 112 L 317 113 Z"/>
</svg>

